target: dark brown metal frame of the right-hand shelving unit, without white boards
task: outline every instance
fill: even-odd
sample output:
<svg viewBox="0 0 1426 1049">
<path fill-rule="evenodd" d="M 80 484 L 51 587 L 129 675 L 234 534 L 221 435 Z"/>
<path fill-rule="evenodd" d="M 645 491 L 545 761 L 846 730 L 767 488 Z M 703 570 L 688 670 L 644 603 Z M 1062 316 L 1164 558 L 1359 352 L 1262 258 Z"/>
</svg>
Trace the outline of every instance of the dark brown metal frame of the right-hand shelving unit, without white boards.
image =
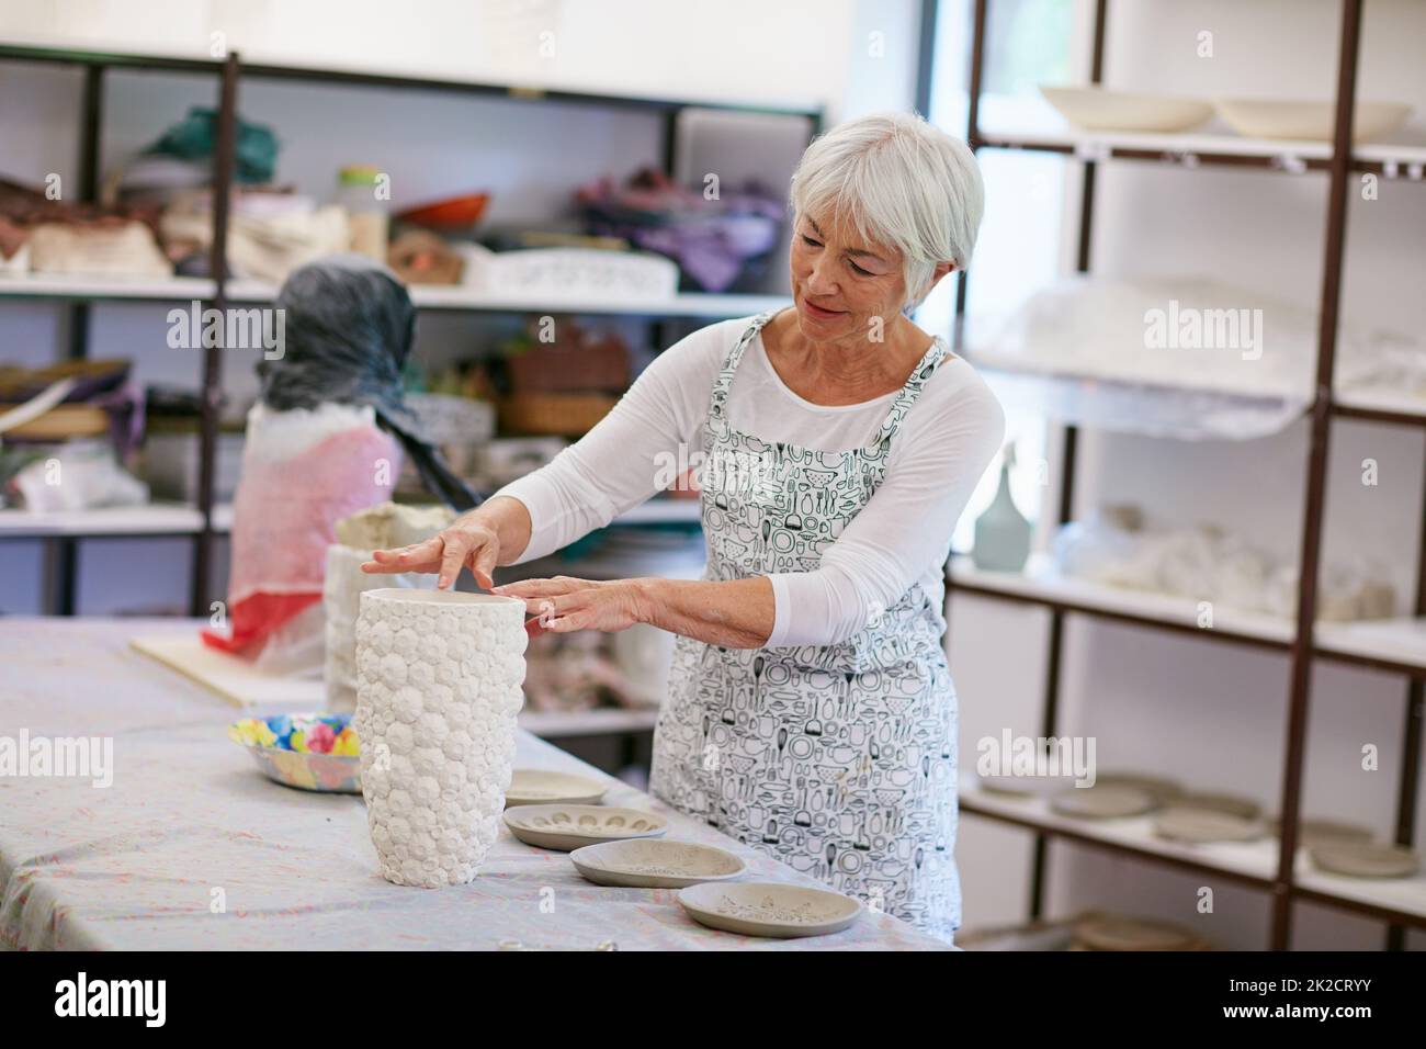
<svg viewBox="0 0 1426 1049">
<path fill-rule="evenodd" d="M 990 0 L 974 0 L 971 13 L 971 54 L 970 54 L 970 104 L 965 128 L 965 138 L 974 150 L 981 148 L 1048 148 L 1064 153 L 1071 158 L 1078 158 L 1084 167 L 1084 181 L 1078 208 L 1078 273 L 1089 271 L 1089 248 L 1094 230 L 1095 206 L 1095 174 L 1098 164 L 1107 160 L 1129 161 L 1182 161 L 1164 150 L 1134 150 L 1127 147 L 1112 147 L 1098 151 L 1081 151 L 1077 154 L 1072 146 L 1020 143 L 1011 137 L 985 136 L 980 130 L 980 100 L 985 77 L 985 30 Z M 1413 826 L 1416 821 L 1416 806 L 1419 804 L 1420 764 L 1422 764 L 1422 724 L 1423 724 L 1423 675 L 1420 668 L 1397 665 L 1386 661 L 1360 659 L 1345 657 L 1318 648 L 1313 639 L 1313 624 L 1316 619 L 1316 588 L 1318 571 L 1322 558 L 1322 525 L 1323 508 L 1328 498 L 1328 448 L 1335 420 L 1356 420 L 1380 425 L 1426 427 L 1426 415 L 1399 412 L 1390 410 L 1376 410 L 1353 407 L 1340 402 L 1333 395 L 1333 370 L 1336 361 L 1338 318 L 1342 298 L 1343 255 L 1346 243 L 1346 216 L 1349 180 L 1355 171 L 1380 171 L 1383 164 L 1376 160 L 1356 156 L 1352 147 L 1350 128 L 1356 104 L 1356 73 L 1362 31 L 1362 0 L 1340 0 L 1340 23 L 1338 33 L 1338 69 L 1333 111 L 1333 136 L 1330 151 L 1323 157 L 1305 160 L 1305 168 L 1320 170 L 1329 178 L 1326 237 L 1323 243 L 1323 270 L 1319 294 L 1319 327 L 1318 327 L 1318 355 L 1315 398 L 1309 408 L 1309 438 L 1308 454 L 1303 464 L 1303 508 L 1301 525 L 1301 547 L 1298 564 L 1298 609 L 1292 639 L 1286 644 L 1263 642 L 1259 638 L 1246 635 L 1224 634 L 1219 631 L 1195 631 L 1198 637 L 1224 641 L 1229 644 L 1248 644 L 1266 649 L 1282 651 L 1286 648 L 1289 657 L 1288 684 L 1288 716 L 1283 725 L 1283 771 L 1279 789 L 1279 814 L 1282 828 L 1278 846 L 1276 872 L 1271 879 L 1243 879 L 1233 872 L 1224 872 L 1209 865 L 1194 865 L 1195 869 L 1205 869 L 1214 873 L 1233 878 L 1241 882 L 1258 885 L 1271 898 L 1271 928 L 1268 946 L 1273 951 L 1286 951 L 1292 943 L 1293 903 L 1296 901 L 1310 901 L 1325 903 L 1345 911 L 1380 918 L 1389 923 L 1386 931 L 1386 948 L 1399 951 L 1405 943 L 1405 929 L 1407 925 L 1423 926 L 1417 916 L 1407 912 L 1395 911 L 1386 906 L 1366 905 L 1346 896 L 1312 889 L 1301 885 L 1295 878 L 1293 863 L 1298 853 L 1298 821 L 1301 816 L 1303 765 L 1306 752 L 1308 712 L 1312 695 L 1312 667 L 1315 659 L 1339 659 L 1356 662 L 1378 671 L 1405 674 L 1409 681 L 1405 694 L 1403 716 L 1403 765 L 1397 784 L 1397 804 L 1395 819 L 1395 841 L 1400 845 L 1412 845 Z M 923 37 L 934 33 L 937 19 L 937 0 L 923 0 Z M 1089 54 L 1089 81 L 1099 84 L 1104 81 L 1104 47 L 1108 31 L 1108 0 L 1094 0 L 1094 29 Z M 918 74 L 918 103 L 921 111 L 927 111 L 930 100 L 931 60 L 923 50 L 921 69 Z M 1252 166 L 1265 173 L 1285 174 L 1292 166 L 1278 163 L 1272 156 L 1241 156 L 1241 154 L 1208 154 L 1199 156 L 1208 164 Z M 961 275 L 955 294 L 955 331 L 961 330 L 965 317 L 967 281 Z M 1064 427 L 1062 464 L 1058 478 L 1058 497 L 1055 502 L 1055 520 L 1067 524 L 1074 517 L 1075 505 L 1075 460 L 1078 451 L 1078 430 L 1074 425 Z M 1422 510 L 1422 534 L 1417 552 L 1417 581 L 1415 594 L 1415 615 L 1426 615 L 1426 507 Z M 947 574 L 947 589 L 954 594 L 975 594 L 981 597 L 1022 601 L 1040 605 L 1050 612 L 1047 631 L 1047 669 L 1041 698 L 1041 735 L 1054 736 L 1058 725 L 1060 691 L 1062 685 L 1064 661 L 1064 629 L 1065 617 L 1070 614 L 1091 615 L 1097 618 L 1131 622 L 1145 629 L 1179 632 L 1179 624 L 1159 622 L 1149 617 L 1128 617 L 1091 607 L 1075 605 L 1047 599 L 1035 595 L 1010 595 L 997 592 L 985 587 L 958 587 L 954 577 Z M 1048 868 L 1048 841 L 1051 836 L 1077 841 L 1098 849 L 1114 851 L 1121 855 L 1132 855 L 1149 862 L 1165 861 L 1164 856 L 1135 849 L 1122 842 L 1107 841 L 1097 836 L 1087 828 L 1082 833 L 1062 828 L 1047 828 L 1032 821 L 1017 821 L 1002 812 L 978 808 L 968 804 L 968 812 L 977 812 L 992 819 L 1027 826 L 1035 832 L 1035 848 L 1031 872 L 1030 913 L 1031 918 L 1041 918 L 1044 911 L 1045 879 Z M 1185 863 L 1179 862 L 1179 866 Z"/>
</svg>

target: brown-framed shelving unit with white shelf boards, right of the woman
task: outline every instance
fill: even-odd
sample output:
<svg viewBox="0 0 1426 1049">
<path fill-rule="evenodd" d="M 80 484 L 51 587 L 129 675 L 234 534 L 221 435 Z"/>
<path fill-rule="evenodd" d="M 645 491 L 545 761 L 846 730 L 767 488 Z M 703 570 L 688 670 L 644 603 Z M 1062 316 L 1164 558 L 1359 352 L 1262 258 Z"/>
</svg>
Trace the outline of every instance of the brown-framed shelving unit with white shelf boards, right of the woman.
<svg viewBox="0 0 1426 1049">
<path fill-rule="evenodd" d="M 1279 791 L 1282 833 L 1251 845 L 1179 846 L 1152 835 L 1148 821 L 1127 819 L 1088 822 L 1065 819 L 1048 809 L 1042 799 L 991 795 L 967 785 L 961 805 L 967 812 L 1024 826 L 1035 832 L 1034 869 L 1030 911 L 1040 918 L 1044 906 L 1047 842 L 1051 838 L 1074 841 L 1097 849 L 1131 855 L 1147 862 L 1204 871 L 1269 893 L 1272 906 L 1269 946 L 1286 949 L 1292 942 L 1293 903 L 1312 901 L 1328 906 L 1379 918 L 1387 922 L 1386 945 L 1400 949 L 1407 926 L 1426 928 L 1426 876 L 1370 882 L 1325 875 L 1309 866 L 1298 849 L 1298 821 L 1302 804 L 1303 759 L 1312 665 L 1318 659 L 1349 662 L 1407 678 L 1403 718 L 1403 766 L 1397 785 L 1395 841 L 1412 845 L 1420 786 L 1423 684 L 1426 684 L 1426 508 L 1420 515 L 1420 551 L 1415 615 L 1382 624 L 1316 622 L 1316 587 L 1322 552 L 1323 505 L 1326 502 L 1326 462 L 1332 422 L 1359 420 L 1382 425 L 1426 427 L 1426 412 L 1405 398 L 1356 395 L 1339 398 L 1333 392 L 1333 365 L 1338 341 L 1338 315 L 1342 295 L 1346 203 L 1350 180 L 1360 171 L 1387 178 L 1423 181 L 1426 147 L 1358 146 L 1350 143 L 1356 103 L 1358 50 L 1362 27 L 1362 0 L 1342 0 L 1338 39 L 1338 69 L 1333 138 L 1330 143 L 1281 143 L 1229 136 L 1142 136 L 1107 133 L 1027 134 L 988 133 L 980 127 L 980 101 L 984 83 L 985 27 L 988 0 L 975 0 L 973 11 L 970 106 L 967 140 L 975 150 L 1034 150 L 1058 153 L 1084 166 L 1078 214 L 1077 270 L 1088 273 L 1098 166 L 1111 161 L 1176 164 L 1195 168 L 1251 167 L 1265 174 L 1319 171 L 1329 180 L 1326 238 L 1319 300 L 1318 355 L 1310 420 L 1309 448 L 1303 468 L 1302 541 L 1298 565 L 1298 611 L 1293 621 L 1266 615 L 1233 614 L 1216 609 L 1212 629 L 1201 629 L 1189 604 L 1164 595 L 1138 594 L 1082 581 L 1054 577 L 1042 564 L 1032 564 L 1022 574 L 981 572 L 964 561 L 948 567 L 951 594 L 968 594 L 1017 601 L 1048 611 L 1047 674 L 1041 702 L 1041 735 L 1055 736 L 1058 729 L 1062 678 L 1064 625 L 1070 615 L 1132 624 L 1144 629 L 1194 634 L 1209 642 L 1229 642 L 1272 649 L 1288 657 L 1288 718 L 1283 725 L 1283 772 Z M 1108 0 L 1095 0 L 1091 50 L 1091 83 L 1104 78 L 1104 41 Z M 935 1 L 927 0 L 927 23 L 934 26 Z M 923 30 L 925 31 L 925 30 Z M 930 66 L 923 53 L 923 111 L 928 100 Z M 967 283 L 957 288 L 957 333 L 965 315 Z M 1052 512 L 1057 522 L 1071 520 L 1075 485 L 1078 432 L 1064 428 L 1062 468 Z"/>
</svg>

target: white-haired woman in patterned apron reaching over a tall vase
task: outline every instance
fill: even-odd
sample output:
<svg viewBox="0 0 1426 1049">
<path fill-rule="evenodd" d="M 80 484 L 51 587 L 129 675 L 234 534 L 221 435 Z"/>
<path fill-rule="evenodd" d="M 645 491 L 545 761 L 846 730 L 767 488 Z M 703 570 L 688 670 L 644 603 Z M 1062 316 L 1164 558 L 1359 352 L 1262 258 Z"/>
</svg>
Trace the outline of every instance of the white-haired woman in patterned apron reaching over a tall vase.
<svg viewBox="0 0 1426 1049">
<path fill-rule="evenodd" d="M 492 587 L 700 461 L 702 581 L 493 591 L 535 629 L 677 634 L 653 794 L 944 939 L 961 908 L 943 568 L 1004 415 L 907 313 L 970 261 L 983 201 L 970 150 L 924 120 L 841 124 L 793 174 L 790 308 L 679 341 L 552 464 L 366 565 Z"/>
</svg>

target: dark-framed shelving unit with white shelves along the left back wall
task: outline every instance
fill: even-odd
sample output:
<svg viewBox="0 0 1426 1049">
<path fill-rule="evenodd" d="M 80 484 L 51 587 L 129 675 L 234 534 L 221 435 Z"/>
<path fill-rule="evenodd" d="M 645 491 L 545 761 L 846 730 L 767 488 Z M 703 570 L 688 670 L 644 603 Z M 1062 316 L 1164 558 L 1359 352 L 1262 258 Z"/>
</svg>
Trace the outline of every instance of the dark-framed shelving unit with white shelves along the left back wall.
<svg viewBox="0 0 1426 1049">
<path fill-rule="evenodd" d="M 214 106 L 214 164 L 211 194 L 214 200 L 225 201 L 235 197 L 237 183 L 230 166 L 217 161 L 224 143 L 231 148 L 240 130 L 238 90 L 244 80 L 267 83 L 289 83 L 312 86 L 322 90 L 328 86 L 352 88 L 381 87 L 391 90 L 438 91 L 471 98 L 503 98 L 520 106 L 576 106 L 596 113 L 630 113 L 652 116 L 659 120 L 662 131 L 663 161 L 672 166 L 680 146 L 680 114 L 694 110 L 740 111 L 796 121 L 799 133 L 806 128 L 809 137 L 821 127 L 823 114 L 817 107 L 777 106 L 727 106 L 716 101 L 704 103 L 673 97 L 610 96 L 578 91 L 545 91 L 505 84 L 485 84 L 462 80 L 441 80 L 429 77 L 385 76 L 341 69 L 284 67 L 275 64 L 245 64 L 240 56 L 228 54 L 224 60 L 190 60 L 164 56 L 125 56 L 83 50 L 51 50 L 43 47 L 0 46 L 0 61 L 43 63 L 68 66 L 84 77 L 81 131 L 88 170 L 80 171 L 81 197 L 93 198 L 100 187 L 98 170 L 104 133 L 106 74 L 110 71 L 168 71 L 210 80 L 217 88 Z M 789 124 L 791 127 L 791 124 Z M 241 126 L 247 127 L 247 126 Z M 204 231 L 207 243 L 217 244 L 217 228 L 228 221 L 232 208 L 208 208 L 207 221 L 211 230 Z M 230 221 L 228 230 L 232 233 Z M 232 250 L 230 235 L 230 253 Z M 395 243 L 394 243 L 395 244 Z M 486 258 L 492 253 L 486 253 Z M 496 257 L 503 253 L 493 253 Z M 519 254 L 519 253 L 509 253 Z M 231 255 L 230 255 L 231 258 Z M 642 260 L 627 260 L 627 267 Z M 663 260 L 659 260 L 660 263 Z M 672 268 L 666 265 L 666 268 Z M 0 274 L 0 301 L 30 300 L 54 301 L 68 308 L 71 314 L 68 355 L 74 360 L 87 357 L 93 325 L 106 317 L 93 310 L 100 303 L 151 303 L 185 304 L 200 301 L 204 307 L 222 308 L 227 304 L 264 304 L 272 301 L 277 293 L 275 281 L 234 277 L 231 270 L 208 261 L 207 273 L 215 277 L 198 275 L 145 275 L 125 278 L 118 275 L 87 277 L 66 273 Z M 597 274 L 596 274 L 597 275 Z M 540 285 L 546 287 L 546 285 Z M 471 284 L 421 284 L 411 285 L 415 305 L 424 311 L 463 311 L 488 314 L 592 314 L 602 317 L 642 318 L 653 325 L 677 323 L 680 320 L 719 320 L 761 313 L 784 304 L 784 298 L 767 294 L 726 294 L 713 291 L 674 290 L 665 281 L 655 288 L 652 284 L 639 291 L 635 281 L 613 287 L 625 287 L 625 293 L 610 294 L 550 294 L 548 288 L 539 294 L 526 294 L 503 284 L 488 287 Z M 680 284 L 680 288 L 683 285 Z M 217 405 L 221 400 L 221 361 L 217 353 L 204 353 L 201 367 L 201 410 L 198 420 L 198 477 L 208 488 L 184 497 L 184 505 L 155 502 L 147 507 L 114 510 L 64 511 L 51 514 L 24 514 L 0 510 L 0 541 L 43 539 L 48 547 L 53 599 L 56 612 L 73 614 L 76 604 L 77 572 L 81 564 L 77 542 L 90 537 L 193 537 L 194 571 L 190 608 L 194 614 L 207 614 L 214 564 L 214 541 L 222 535 L 231 522 L 231 507 L 215 491 L 218 468 L 215 460 L 221 447 L 218 434 Z M 676 501 L 655 501 L 636 512 L 625 515 L 616 524 L 696 524 L 696 512 Z"/>
</svg>

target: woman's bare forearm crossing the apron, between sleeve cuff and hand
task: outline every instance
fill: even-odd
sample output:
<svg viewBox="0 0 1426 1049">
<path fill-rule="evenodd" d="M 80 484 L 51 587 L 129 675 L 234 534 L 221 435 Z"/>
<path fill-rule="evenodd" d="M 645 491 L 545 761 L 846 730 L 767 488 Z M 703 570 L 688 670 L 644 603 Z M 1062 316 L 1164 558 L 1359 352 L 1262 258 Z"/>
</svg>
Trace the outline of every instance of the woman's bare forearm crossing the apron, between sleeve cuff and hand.
<svg viewBox="0 0 1426 1049">
<path fill-rule="evenodd" d="M 722 648 L 761 648 L 773 632 L 776 602 L 764 575 L 706 582 L 639 579 L 642 622 Z"/>
</svg>

